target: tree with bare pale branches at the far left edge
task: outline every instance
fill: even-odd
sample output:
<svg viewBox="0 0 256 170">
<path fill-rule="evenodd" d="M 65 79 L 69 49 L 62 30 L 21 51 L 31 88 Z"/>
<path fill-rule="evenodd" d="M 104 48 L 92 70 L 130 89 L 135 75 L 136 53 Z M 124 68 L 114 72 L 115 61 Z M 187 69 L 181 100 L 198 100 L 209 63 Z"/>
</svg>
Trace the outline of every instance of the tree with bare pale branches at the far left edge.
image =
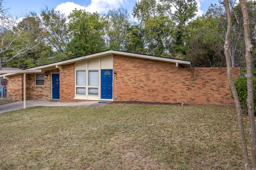
<svg viewBox="0 0 256 170">
<path fill-rule="evenodd" d="M 0 1 L 2 3 L 2 1 Z M 0 70 L 2 64 L 9 63 L 20 56 L 26 56 L 28 52 L 40 45 L 44 31 L 35 34 L 37 22 L 33 18 L 25 18 L 18 24 L 17 20 L 2 10 L 0 3 Z M 18 25 L 17 25 L 18 24 Z M 17 25 L 17 26 L 16 26 Z M 34 35 L 34 36 L 33 36 Z"/>
</svg>

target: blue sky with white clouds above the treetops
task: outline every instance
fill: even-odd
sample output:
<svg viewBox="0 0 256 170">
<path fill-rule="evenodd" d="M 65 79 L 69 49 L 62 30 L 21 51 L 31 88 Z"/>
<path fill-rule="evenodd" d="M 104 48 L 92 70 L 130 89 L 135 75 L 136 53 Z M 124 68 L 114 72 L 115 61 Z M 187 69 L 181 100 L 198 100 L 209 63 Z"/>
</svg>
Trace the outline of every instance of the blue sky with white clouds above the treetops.
<svg viewBox="0 0 256 170">
<path fill-rule="evenodd" d="M 205 13 L 210 4 L 218 4 L 218 0 L 197 0 L 200 3 L 198 15 Z M 20 17 L 30 11 L 40 14 L 41 9 L 48 6 L 50 9 L 57 9 L 65 14 L 72 12 L 74 8 L 84 9 L 88 12 L 106 13 L 112 8 L 126 8 L 132 12 L 136 0 L 4 0 L 3 9 L 10 8 L 8 12 L 12 16 Z"/>
</svg>

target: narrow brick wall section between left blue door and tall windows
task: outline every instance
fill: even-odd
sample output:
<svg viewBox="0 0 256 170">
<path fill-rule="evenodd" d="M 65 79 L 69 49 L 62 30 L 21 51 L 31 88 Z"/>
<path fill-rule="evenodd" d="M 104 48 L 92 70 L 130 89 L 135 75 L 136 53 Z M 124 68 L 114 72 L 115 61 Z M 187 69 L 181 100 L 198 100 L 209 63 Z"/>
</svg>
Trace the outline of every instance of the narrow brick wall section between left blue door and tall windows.
<svg viewBox="0 0 256 170">
<path fill-rule="evenodd" d="M 66 64 L 60 71 L 60 102 L 74 102 L 75 65 Z"/>
</svg>

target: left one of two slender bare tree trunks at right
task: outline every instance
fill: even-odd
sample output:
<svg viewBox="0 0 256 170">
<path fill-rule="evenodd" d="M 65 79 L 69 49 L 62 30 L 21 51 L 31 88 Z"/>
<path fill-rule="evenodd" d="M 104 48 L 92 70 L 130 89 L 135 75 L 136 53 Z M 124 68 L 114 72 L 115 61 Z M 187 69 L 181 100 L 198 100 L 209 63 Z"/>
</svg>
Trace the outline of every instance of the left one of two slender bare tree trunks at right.
<svg viewBox="0 0 256 170">
<path fill-rule="evenodd" d="M 246 138 L 245 138 L 245 132 L 244 132 L 244 120 L 242 115 L 242 108 L 240 105 L 240 101 L 238 98 L 238 94 L 236 92 L 236 87 L 234 84 L 234 80 L 232 78 L 232 68 L 231 68 L 231 62 L 230 62 L 230 37 L 231 37 L 231 14 L 230 14 L 230 8 L 228 0 L 223 1 L 227 18 L 228 18 L 228 28 L 226 33 L 226 40 L 224 45 L 225 50 L 225 57 L 226 57 L 226 63 L 227 63 L 227 72 L 228 72 L 228 81 L 230 84 L 230 88 L 232 90 L 232 94 L 234 96 L 235 104 L 236 104 L 236 111 L 238 115 L 238 123 L 239 123 L 239 131 L 240 131 L 240 137 L 241 137 L 241 143 L 242 143 L 242 149 L 243 149 L 243 155 L 244 155 L 244 166 L 246 170 L 250 170 L 250 163 L 249 163 L 249 156 L 248 156 L 248 150 L 246 145 Z"/>
</svg>

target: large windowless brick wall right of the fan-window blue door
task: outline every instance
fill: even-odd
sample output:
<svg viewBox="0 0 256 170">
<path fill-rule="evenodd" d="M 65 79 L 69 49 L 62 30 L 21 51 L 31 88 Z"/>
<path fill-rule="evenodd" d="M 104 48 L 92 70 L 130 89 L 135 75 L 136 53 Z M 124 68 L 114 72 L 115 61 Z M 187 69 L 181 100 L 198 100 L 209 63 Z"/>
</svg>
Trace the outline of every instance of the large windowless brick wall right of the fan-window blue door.
<svg viewBox="0 0 256 170">
<path fill-rule="evenodd" d="M 234 105 L 226 68 L 180 68 L 174 63 L 114 55 L 115 101 Z M 233 69 L 240 76 L 240 69 Z M 113 96 L 116 96 L 113 82 Z"/>
</svg>

